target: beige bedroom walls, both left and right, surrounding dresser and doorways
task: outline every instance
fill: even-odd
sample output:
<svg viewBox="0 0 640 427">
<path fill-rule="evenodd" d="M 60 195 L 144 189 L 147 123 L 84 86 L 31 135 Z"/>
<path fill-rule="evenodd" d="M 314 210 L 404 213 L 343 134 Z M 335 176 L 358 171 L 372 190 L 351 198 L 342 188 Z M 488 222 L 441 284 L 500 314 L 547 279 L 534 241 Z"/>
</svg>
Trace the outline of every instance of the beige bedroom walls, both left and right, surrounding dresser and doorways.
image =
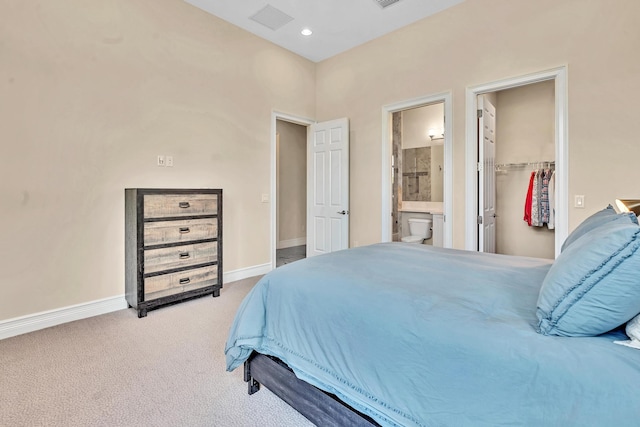
<svg viewBox="0 0 640 427">
<path fill-rule="evenodd" d="M 383 105 L 452 92 L 462 248 L 465 88 L 560 65 L 570 228 L 638 195 L 640 2 L 614 3 L 466 0 L 313 64 L 181 0 L 0 1 L 0 320 L 123 294 L 125 187 L 223 188 L 225 271 L 268 263 L 273 110 L 349 117 L 351 244 L 380 238 Z"/>
</svg>

